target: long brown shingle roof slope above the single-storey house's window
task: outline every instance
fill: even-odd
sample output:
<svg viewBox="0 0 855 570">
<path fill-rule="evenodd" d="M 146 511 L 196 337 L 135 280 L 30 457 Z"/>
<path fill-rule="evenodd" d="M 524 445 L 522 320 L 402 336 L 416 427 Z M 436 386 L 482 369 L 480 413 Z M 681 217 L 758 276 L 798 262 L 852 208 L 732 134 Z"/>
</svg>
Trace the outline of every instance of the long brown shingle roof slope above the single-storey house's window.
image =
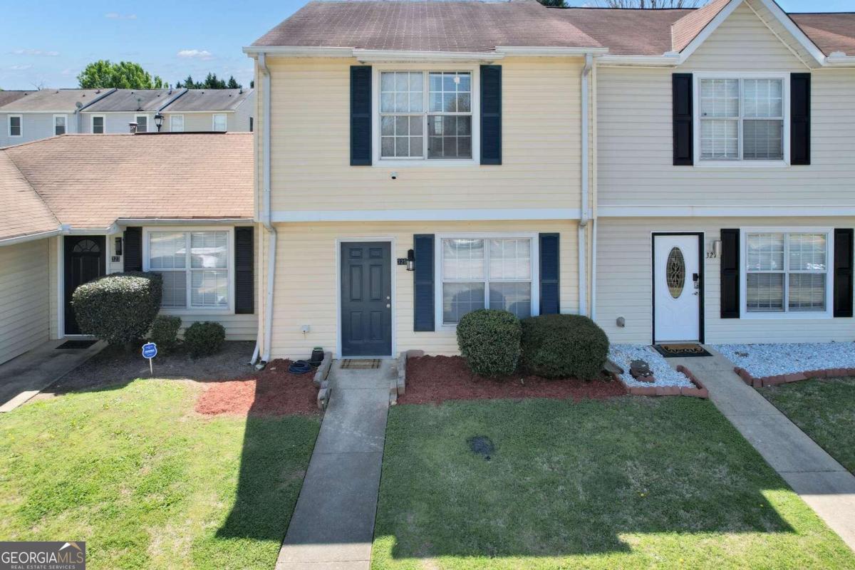
<svg viewBox="0 0 855 570">
<path fill-rule="evenodd" d="M 21 191 L 15 180 L 22 175 L 56 220 L 73 227 L 253 215 L 251 132 L 72 134 L 8 147 L 0 156 L 15 167 L 0 171 L 0 204 Z M 31 218 L 14 217 L 19 225 Z M 40 227 L 27 221 L 17 231 Z"/>
</svg>

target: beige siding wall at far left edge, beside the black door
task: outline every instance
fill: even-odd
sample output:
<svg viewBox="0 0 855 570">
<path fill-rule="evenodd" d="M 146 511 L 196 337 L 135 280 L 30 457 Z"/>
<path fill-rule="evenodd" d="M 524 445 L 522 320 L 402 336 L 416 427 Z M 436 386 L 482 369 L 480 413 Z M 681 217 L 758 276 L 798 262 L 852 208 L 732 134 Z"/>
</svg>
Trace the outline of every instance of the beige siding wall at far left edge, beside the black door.
<svg viewBox="0 0 855 570">
<path fill-rule="evenodd" d="M 0 247 L 0 362 L 50 336 L 48 241 Z"/>
</svg>

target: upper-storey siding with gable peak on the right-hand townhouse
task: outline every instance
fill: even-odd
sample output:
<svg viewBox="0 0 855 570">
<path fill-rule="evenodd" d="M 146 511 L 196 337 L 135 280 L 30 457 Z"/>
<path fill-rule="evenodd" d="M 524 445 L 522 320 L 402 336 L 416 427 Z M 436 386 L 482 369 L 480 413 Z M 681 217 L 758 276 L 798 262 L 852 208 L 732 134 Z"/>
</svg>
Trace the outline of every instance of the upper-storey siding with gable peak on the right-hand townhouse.
<svg viewBox="0 0 855 570">
<path fill-rule="evenodd" d="M 598 206 L 855 206 L 852 69 L 811 73 L 811 166 L 672 166 L 671 74 L 752 71 L 809 69 L 745 5 L 679 68 L 598 68 Z"/>
</svg>

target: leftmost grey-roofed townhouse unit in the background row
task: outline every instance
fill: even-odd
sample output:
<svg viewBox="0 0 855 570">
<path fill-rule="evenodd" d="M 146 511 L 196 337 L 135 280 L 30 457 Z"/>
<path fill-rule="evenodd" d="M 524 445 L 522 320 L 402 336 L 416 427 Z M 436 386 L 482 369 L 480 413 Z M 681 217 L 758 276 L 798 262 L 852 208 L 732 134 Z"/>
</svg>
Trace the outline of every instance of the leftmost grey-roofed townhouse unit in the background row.
<svg viewBox="0 0 855 570">
<path fill-rule="evenodd" d="M 3 103 L 0 96 L 0 147 L 39 138 L 82 132 L 80 111 L 114 89 L 42 89 Z M 3 91 L 0 91 L 2 93 Z"/>
</svg>

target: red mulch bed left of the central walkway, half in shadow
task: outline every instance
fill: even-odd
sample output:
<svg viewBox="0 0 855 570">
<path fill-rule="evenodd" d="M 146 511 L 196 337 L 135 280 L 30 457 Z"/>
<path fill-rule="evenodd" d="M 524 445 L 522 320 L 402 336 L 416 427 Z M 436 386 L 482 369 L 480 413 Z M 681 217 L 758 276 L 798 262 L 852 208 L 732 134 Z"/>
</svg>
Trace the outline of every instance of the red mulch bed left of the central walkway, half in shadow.
<svg viewBox="0 0 855 570">
<path fill-rule="evenodd" d="M 206 415 L 317 414 L 313 374 L 289 373 L 289 364 L 291 361 L 274 360 L 251 379 L 209 385 L 199 397 L 196 411 Z"/>
</svg>

